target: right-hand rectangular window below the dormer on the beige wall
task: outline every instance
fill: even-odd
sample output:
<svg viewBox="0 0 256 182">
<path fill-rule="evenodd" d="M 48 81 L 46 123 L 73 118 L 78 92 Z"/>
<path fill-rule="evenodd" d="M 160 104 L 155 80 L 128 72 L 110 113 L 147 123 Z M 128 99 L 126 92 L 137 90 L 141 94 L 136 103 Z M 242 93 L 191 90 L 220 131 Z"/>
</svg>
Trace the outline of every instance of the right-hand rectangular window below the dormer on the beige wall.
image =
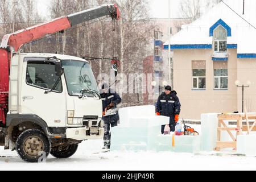
<svg viewBox="0 0 256 182">
<path fill-rule="evenodd" d="M 213 63 L 214 89 L 228 89 L 228 63 L 217 61 Z"/>
</svg>

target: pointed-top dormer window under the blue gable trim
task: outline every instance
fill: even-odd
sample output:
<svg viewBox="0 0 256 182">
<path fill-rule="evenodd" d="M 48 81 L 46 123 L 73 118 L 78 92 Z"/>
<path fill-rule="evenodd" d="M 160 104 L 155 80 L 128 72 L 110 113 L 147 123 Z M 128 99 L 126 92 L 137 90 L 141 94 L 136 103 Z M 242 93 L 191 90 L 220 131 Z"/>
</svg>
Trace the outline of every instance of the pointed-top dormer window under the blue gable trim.
<svg viewBox="0 0 256 182">
<path fill-rule="evenodd" d="M 221 25 L 213 31 L 214 52 L 226 52 L 226 40 L 228 32 Z"/>
</svg>

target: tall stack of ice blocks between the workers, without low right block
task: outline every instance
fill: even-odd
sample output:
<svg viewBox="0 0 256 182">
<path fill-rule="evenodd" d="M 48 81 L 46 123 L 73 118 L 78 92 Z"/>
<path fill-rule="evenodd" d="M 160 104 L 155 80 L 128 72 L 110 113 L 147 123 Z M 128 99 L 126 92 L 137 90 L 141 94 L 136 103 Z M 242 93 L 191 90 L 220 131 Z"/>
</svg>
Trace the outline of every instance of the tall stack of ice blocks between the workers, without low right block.
<svg viewBox="0 0 256 182">
<path fill-rule="evenodd" d="M 155 150 L 161 125 L 169 118 L 155 115 L 154 106 L 125 107 L 119 110 L 120 126 L 111 130 L 110 150 Z"/>
</svg>

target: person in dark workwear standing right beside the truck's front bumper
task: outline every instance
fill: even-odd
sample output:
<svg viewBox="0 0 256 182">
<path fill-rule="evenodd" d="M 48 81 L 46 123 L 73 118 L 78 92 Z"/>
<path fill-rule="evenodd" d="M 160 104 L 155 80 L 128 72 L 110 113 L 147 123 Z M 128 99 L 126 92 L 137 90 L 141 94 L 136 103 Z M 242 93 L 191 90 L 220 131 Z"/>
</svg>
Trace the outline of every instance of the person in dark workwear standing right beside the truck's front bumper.
<svg viewBox="0 0 256 182">
<path fill-rule="evenodd" d="M 103 149 L 110 148 L 110 126 L 117 126 L 119 115 L 117 105 L 121 103 L 121 97 L 115 93 L 106 82 L 101 84 L 100 88 L 102 100 L 102 119 L 104 121 L 104 147 Z"/>
</svg>

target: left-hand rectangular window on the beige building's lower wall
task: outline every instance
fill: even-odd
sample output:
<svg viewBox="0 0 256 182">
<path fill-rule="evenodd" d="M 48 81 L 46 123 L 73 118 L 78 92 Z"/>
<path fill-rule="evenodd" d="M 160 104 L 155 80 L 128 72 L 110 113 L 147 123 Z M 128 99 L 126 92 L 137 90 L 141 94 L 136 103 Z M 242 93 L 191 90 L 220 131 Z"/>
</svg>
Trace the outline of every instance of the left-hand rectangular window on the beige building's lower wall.
<svg viewBox="0 0 256 182">
<path fill-rule="evenodd" d="M 192 61 L 192 89 L 205 89 L 206 69 L 205 61 Z"/>
</svg>

